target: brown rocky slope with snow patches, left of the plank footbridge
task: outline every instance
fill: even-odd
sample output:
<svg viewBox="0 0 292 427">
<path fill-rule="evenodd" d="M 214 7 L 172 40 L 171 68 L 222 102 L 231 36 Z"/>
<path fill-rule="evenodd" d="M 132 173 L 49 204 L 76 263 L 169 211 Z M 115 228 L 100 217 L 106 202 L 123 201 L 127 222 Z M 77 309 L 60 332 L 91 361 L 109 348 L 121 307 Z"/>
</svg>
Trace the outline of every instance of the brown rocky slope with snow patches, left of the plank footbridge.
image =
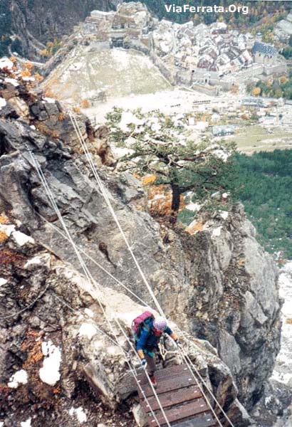
<svg viewBox="0 0 292 427">
<path fill-rule="evenodd" d="M 2 236 L 5 229 L 9 234 L 2 224 Z M 125 360 L 106 337 L 96 290 L 16 233 L 5 242 L 2 238 L 0 250 L 1 422 L 19 426 L 33 418 L 35 426 L 78 426 L 80 421 L 134 426 L 131 402 L 120 413 L 110 409 L 120 401 L 117 385 Z M 113 302 L 113 291 L 108 292 L 105 297 Z M 98 386 L 86 380 L 90 369 L 98 372 Z"/>
</svg>

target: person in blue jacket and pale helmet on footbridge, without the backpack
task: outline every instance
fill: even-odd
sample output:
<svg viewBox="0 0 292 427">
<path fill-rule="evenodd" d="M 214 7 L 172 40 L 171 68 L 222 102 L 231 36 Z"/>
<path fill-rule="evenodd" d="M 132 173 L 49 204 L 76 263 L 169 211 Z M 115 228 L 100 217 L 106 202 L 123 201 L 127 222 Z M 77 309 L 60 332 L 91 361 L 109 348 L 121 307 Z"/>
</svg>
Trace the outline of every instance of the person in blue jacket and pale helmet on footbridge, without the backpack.
<svg viewBox="0 0 292 427">
<path fill-rule="evenodd" d="M 177 335 L 167 326 L 167 321 L 163 317 L 150 318 L 147 327 L 142 327 L 140 337 L 136 343 L 142 368 L 147 368 L 150 380 L 155 387 L 157 386 L 154 376 L 156 370 L 155 352 L 159 352 L 158 343 L 164 332 L 170 335 L 177 347 L 181 346 Z"/>
</svg>

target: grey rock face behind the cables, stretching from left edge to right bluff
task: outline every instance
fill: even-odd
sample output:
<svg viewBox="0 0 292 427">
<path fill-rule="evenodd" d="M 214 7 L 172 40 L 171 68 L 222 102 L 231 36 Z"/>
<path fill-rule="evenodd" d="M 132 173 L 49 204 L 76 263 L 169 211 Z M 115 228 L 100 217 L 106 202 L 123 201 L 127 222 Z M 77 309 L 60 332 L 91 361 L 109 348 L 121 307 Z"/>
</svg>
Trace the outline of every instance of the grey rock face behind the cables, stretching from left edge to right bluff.
<svg viewBox="0 0 292 427">
<path fill-rule="evenodd" d="M 95 280 L 121 292 L 121 285 L 105 273 L 108 270 L 152 305 L 84 157 L 69 153 L 64 139 L 41 134 L 21 121 L 0 120 L 0 137 L 0 199 L 24 230 L 58 258 L 79 268 L 73 248 L 58 232 L 58 228 L 63 232 L 61 224 L 33 168 L 29 148 L 41 164 L 73 241 L 86 253 Z M 218 350 L 224 364 L 217 371 L 219 359 L 207 362 L 210 380 L 220 399 L 232 398 L 229 411 L 238 419 L 236 426 L 247 425 L 241 404 L 251 408 L 261 394 L 279 349 L 281 322 L 276 266 L 256 242 L 242 206 L 234 206 L 226 219 L 216 214 L 205 218 L 203 231 L 189 236 L 180 228 L 157 223 L 148 214 L 140 181 L 94 159 L 98 159 L 110 201 L 157 300 L 179 327 L 207 339 Z M 227 366 L 241 404 L 235 399 L 237 391 Z M 111 386 L 96 378 L 98 367 L 90 365 L 85 371 L 95 379 L 95 386 L 108 390 L 113 401 Z"/>
</svg>

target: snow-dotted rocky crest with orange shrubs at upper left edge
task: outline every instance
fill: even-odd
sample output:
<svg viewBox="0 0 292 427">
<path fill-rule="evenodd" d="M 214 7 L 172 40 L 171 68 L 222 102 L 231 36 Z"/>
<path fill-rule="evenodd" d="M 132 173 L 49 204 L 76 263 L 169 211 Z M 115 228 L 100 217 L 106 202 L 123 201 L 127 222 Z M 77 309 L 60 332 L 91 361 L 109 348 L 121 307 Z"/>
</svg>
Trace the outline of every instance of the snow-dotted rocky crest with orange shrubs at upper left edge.
<svg viewBox="0 0 292 427">
<path fill-rule="evenodd" d="M 6 62 L 10 63 L 9 67 L 12 67 L 13 63 L 8 58 Z M 0 71 L 0 117 L 14 120 L 21 117 L 22 121 L 30 125 L 29 132 L 36 130 L 34 134 L 36 139 L 38 138 L 36 136 L 37 132 L 41 132 L 38 135 L 58 139 L 68 144 L 71 149 L 79 151 L 78 137 L 75 134 L 68 112 L 64 110 L 61 103 L 46 97 L 41 91 L 33 93 L 31 88 L 31 84 L 34 83 L 33 77 L 29 78 L 31 80 L 26 80 L 26 78 L 21 77 L 19 72 L 14 75 L 14 71 L 7 70 L 7 73 Z M 90 142 L 93 154 L 99 152 L 105 164 L 113 163 L 114 159 L 105 135 L 100 135 L 100 132 L 95 131 L 87 117 L 76 113 L 74 113 L 74 116 L 80 127 L 81 135 L 87 142 Z M 2 122 L 2 125 L 5 127 L 5 122 Z M 27 134 L 28 131 L 24 130 L 21 123 L 17 123 L 16 127 L 19 127 L 20 135 L 21 132 L 26 132 Z M 9 134 L 9 130 L 7 130 L 7 134 Z M 40 138 L 42 141 L 43 137 Z M 56 145 L 54 142 L 51 142 L 51 144 L 53 146 Z M 1 145 L 1 149 L 4 152 L 6 147 L 5 139 Z M 11 147 L 14 147 L 14 145 L 12 144 Z"/>
</svg>

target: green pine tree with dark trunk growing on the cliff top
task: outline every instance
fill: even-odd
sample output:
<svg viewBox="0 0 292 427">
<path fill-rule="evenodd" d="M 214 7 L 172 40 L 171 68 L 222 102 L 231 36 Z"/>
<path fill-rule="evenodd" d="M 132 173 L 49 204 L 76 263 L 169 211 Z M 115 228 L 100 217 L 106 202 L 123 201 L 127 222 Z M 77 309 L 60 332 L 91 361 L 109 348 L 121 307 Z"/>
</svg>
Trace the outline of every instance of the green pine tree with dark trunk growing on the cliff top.
<svg viewBox="0 0 292 427">
<path fill-rule="evenodd" d="M 155 175 L 155 185 L 169 184 L 172 189 L 172 221 L 177 221 L 181 194 L 194 191 L 197 198 L 205 198 L 223 187 L 220 178 L 226 167 L 227 147 L 223 145 L 188 142 L 138 141 L 134 153 L 122 158 L 122 162 L 135 159 L 135 172 L 144 176 Z M 232 149 L 232 147 L 228 147 Z M 128 166 L 124 167 L 124 170 Z"/>
</svg>

